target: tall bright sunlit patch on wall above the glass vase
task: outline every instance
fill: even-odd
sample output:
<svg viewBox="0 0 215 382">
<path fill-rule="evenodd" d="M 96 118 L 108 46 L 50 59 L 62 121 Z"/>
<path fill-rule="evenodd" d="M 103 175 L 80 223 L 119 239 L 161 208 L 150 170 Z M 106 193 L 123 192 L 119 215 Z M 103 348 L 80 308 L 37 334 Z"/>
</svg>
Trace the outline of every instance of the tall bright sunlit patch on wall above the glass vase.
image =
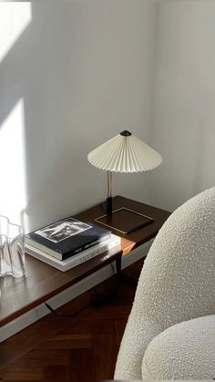
<svg viewBox="0 0 215 382">
<path fill-rule="evenodd" d="M 25 148 L 24 100 L 21 98 L 0 126 L 0 214 L 21 224 L 27 198 Z"/>
</svg>

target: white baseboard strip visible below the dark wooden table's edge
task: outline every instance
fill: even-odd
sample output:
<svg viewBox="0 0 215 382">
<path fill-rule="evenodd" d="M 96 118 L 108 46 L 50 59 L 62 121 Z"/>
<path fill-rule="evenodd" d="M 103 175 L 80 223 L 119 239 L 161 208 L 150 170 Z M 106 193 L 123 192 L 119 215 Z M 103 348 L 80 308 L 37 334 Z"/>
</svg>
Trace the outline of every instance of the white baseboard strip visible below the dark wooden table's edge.
<svg viewBox="0 0 215 382">
<path fill-rule="evenodd" d="M 145 257 L 152 242 L 153 240 L 141 245 L 131 253 L 128 253 L 128 255 L 124 256 L 122 258 L 122 269 L 128 267 L 128 265 L 131 263 L 135 263 L 139 259 Z M 47 304 L 51 305 L 54 309 L 67 304 L 78 295 L 87 292 L 87 290 L 111 277 L 113 275 L 113 269 L 115 270 L 115 266 L 112 268 L 110 264 L 105 266 L 94 274 L 89 275 L 86 279 L 81 280 L 79 283 L 71 286 L 70 288 L 67 288 L 67 290 L 61 292 L 60 294 L 56 294 L 56 296 L 46 301 Z M 5 341 L 5 339 L 9 338 L 10 336 L 14 336 L 15 333 L 23 330 L 26 326 L 35 323 L 37 320 L 44 317 L 45 315 L 48 315 L 49 313 L 50 311 L 46 308 L 46 305 L 41 304 L 26 314 L 16 318 L 12 322 L 2 326 L 0 328 L 0 343 Z"/>
</svg>

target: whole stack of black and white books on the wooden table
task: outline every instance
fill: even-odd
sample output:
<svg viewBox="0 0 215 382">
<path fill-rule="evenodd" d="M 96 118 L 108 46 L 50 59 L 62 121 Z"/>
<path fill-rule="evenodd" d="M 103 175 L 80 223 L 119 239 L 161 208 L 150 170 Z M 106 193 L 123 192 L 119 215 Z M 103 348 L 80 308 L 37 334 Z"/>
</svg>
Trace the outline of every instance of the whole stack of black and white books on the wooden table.
<svg viewBox="0 0 215 382">
<path fill-rule="evenodd" d="M 69 217 L 26 234 L 25 248 L 26 253 L 66 272 L 118 244 L 117 235 Z"/>
</svg>

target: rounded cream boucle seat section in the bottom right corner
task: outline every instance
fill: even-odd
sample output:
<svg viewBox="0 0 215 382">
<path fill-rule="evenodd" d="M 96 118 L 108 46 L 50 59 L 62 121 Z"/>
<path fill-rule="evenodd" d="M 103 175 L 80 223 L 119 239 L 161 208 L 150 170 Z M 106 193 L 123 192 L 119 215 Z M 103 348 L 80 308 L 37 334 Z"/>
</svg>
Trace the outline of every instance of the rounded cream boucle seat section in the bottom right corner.
<svg viewBox="0 0 215 382">
<path fill-rule="evenodd" d="M 143 379 L 214 377 L 215 315 L 170 326 L 152 339 L 143 357 Z"/>
</svg>

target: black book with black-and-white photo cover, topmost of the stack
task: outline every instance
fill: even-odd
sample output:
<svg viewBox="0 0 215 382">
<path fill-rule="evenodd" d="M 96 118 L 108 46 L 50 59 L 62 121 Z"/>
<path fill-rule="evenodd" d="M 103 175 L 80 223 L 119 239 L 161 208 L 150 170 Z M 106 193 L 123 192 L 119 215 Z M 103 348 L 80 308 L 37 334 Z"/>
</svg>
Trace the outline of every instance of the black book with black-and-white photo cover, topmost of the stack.
<svg viewBox="0 0 215 382">
<path fill-rule="evenodd" d="M 109 231 L 91 222 L 69 217 L 26 234 L 26 245 L 45 251 L 58 260 L 66 260 L 109 236 Z"/>
</svg>

